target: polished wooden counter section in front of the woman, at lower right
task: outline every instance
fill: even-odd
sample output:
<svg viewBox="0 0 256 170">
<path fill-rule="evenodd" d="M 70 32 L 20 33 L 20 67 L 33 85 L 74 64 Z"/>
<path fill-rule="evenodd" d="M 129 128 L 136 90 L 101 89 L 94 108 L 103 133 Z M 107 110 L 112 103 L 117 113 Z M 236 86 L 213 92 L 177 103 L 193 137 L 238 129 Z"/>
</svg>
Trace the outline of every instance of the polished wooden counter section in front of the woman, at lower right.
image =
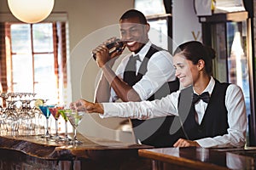
<svg viewBox="0 0 256 170">
<path fill-rule="evenodd" d="M 139 150 L 139 156 L 151 159 L 154 170 L 183 169 L 255 169 L 250 150 L 214 150 L 196 147 Z M 251 150 L 256 153 L 256 150 Z"/>
</svg>

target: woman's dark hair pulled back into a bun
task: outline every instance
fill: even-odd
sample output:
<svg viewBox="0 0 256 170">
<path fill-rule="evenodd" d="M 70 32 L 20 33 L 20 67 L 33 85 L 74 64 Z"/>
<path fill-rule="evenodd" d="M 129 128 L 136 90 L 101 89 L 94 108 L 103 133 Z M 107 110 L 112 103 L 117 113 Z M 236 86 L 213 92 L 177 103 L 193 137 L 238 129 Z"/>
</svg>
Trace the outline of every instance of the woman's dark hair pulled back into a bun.
<svg viewBox="0 0 256 170">
<path fill-rule="evenodd" d="M 194 65 L 198 63 L 199 59 L 203 59 L 206 65 L 207 75 L 212 76 L 212 59 L 216 57 L 216 53 L 211 47 L 207 47 L 197 41 L 184 42 L 177 47 L 173 55 L 175 54 L 183 54 Z"/>
</svg>

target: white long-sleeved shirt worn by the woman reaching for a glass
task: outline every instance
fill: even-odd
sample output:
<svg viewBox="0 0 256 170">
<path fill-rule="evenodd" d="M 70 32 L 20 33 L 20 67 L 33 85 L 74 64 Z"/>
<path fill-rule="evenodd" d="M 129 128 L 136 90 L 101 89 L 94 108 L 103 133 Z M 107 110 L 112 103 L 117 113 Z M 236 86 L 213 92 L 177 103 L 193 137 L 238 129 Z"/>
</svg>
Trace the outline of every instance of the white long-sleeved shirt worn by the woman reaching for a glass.
<svg viewBox="0 0 256 170">
<path fill-rule="evenodd" d="M 212 94 L 215 81 L 211 77 L 207 88 L 203 92 Z M 167 95 L 163 99 L 142 102 L 126 103 L 104 103 L 104 114 L 101 117 L 131 117 L 138 119 L 148 119 L 158 116 L 177 116 L 177 102 L 180 91 Z M 204 138 L 195 140 L 201 147 L 241 147 L 246 142 L 247 114 L 246 105 L 241 88 L 235 84 L 230 84 L 225 95 L 225 106 L 228 111 L 229 128 L 227 134 L 214 138 Z M 198 114 L 198 122 L 204 116 L 207 103 L 200 100 L 195 104 L 195 111 Z"/>
</svg>

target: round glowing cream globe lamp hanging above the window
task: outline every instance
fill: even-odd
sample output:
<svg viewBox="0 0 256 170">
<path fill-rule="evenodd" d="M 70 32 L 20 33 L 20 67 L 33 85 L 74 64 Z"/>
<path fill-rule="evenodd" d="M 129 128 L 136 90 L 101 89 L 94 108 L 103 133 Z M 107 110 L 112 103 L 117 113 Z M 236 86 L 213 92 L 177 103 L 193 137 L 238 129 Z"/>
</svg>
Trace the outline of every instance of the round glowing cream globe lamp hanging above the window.
<svg viewBox="0 0 256 170">
<path fill-rule="evenodd" d="M 37 23 L 47 18 L 54 3 L 54 0 L 8 0 L 11 13 L 26 23 Z"/>
</svg>

